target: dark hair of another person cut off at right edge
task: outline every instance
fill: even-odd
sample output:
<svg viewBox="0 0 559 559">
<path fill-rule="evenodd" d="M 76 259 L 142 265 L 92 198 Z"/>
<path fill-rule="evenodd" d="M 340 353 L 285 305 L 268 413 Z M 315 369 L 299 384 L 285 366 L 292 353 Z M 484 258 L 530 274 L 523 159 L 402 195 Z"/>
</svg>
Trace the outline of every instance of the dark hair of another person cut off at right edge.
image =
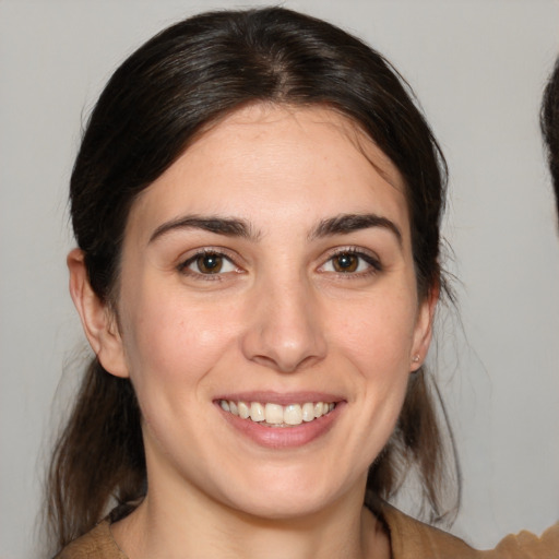
<svg viewBox="0 0 559 559">
<path fill-rule="evenodd" d="M 542 132 L 546 142 L 547 162 L 555 189 L 555 203 L 559 217 L 559 58 L 547 82 L 539 116 Z"/>
</svg>

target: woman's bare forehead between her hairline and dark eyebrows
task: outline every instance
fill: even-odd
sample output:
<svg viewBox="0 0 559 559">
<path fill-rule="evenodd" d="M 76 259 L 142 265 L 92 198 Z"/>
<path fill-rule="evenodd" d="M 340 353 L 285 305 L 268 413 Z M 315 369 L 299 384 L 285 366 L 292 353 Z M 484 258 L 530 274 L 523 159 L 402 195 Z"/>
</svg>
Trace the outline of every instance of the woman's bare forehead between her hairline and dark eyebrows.
<svg viewBox="0 0 559 559">
<path fill-rule="evenodd" d="M 215 122 L 134 202 L 129 226 L 181 214 L 270 224 L 377 211 L 407 228 L 402 177 L 347 117 L 252 105 Z"/>
</svg>

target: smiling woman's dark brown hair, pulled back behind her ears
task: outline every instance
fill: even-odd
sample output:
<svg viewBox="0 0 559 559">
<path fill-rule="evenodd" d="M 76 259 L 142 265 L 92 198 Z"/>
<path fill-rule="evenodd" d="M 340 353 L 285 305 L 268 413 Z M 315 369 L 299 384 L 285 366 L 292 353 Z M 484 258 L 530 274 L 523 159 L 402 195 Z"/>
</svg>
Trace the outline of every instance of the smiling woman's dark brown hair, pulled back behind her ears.
<svg viewBox="0 0 559 559">
<path fill-rule="evenodd" d="M 173 25 L 130 56 L 102 93 L 75 160 L 70 201 L 88 278 L 103 301 L 118 297 L 124 226 L 138 194 L 209 126 L 254 103 L 328 106 L 357 123 L 405 181 L 419 297 L 444 292 L 445 163 L 409 87 L 359 39 L 269 8 L 211 12 Z M 370 468 L 367 499 L 392 497 L 414 466 L 435 520 L 444 512 L 448 464 L 429 382 L 423 369 L 411 376 L 396 430 Z M 50 465 L 56 547 L 93 527 L 115 501 L 145 495 L 140 419 L 130 382 L 95 359 Z"/>
</svg>

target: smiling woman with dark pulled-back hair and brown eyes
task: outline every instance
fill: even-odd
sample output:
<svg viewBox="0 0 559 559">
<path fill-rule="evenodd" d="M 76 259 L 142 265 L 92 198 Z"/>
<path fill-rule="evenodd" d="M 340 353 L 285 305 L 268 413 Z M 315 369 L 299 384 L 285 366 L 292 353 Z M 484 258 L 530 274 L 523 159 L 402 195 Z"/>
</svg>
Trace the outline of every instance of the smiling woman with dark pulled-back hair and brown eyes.
<svg viewBox="0 0 559 559">
<path fill-rule="evenodd" d="M 477 557 L 385 504 L 412 471 L 445 512 L 444 171 L 395 71 L 324 22 L 210 13 L 133 53 L 71 180 L 96 357 L 51 465 L 59 557 Z"/>
</svg>

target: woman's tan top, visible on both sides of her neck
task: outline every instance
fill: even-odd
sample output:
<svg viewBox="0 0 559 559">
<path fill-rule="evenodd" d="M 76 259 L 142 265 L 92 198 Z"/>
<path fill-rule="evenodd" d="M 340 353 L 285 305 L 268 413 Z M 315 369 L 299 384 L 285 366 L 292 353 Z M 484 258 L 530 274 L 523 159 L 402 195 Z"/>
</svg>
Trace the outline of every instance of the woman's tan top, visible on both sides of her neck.
<svg viewBox="0 0 559 559">
<path fill-rule="evenodd" d="M 507 536 L 495 549 L 477 551 L 462 539 L 383 507 L 393 559 L 559 559 L 559 522 L 537 537 L 528 532 Z M 55 559 L 128 559 L 107 520 L 67 546 Z"/>
</svg>

